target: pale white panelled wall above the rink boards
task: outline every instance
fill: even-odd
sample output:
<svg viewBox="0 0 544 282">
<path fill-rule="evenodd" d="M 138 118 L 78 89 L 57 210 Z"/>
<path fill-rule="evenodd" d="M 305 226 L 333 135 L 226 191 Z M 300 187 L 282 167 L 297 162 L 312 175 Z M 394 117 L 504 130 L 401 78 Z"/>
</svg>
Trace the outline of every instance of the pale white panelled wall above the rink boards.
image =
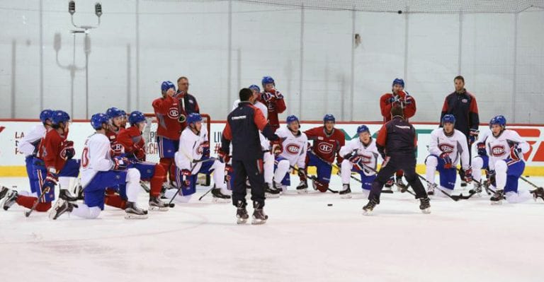
<svg viewBox="0 0 544 282">
<path fill-rule="evenodd" d="M 40 94 L 42 107 L 85 117 L 84 37 L 76 37 L 74 59 L 67 2 L 0 0 L 0 117 L 36 117 Z M 414 13 L 406 20 L 406 13 L 301 12 L 233 1 L 229 33 L 229 1 L 102 4 L 101 26 L 89 35 L 89 114 L 110 106 L 151 112 L 160 83 L 183 75 L 203 112 L 225 119 L 239 88 L 270 75 L 287 100 L 282 117 L 321 119 L 331 112 L 380 120 L 378 98 L 404 77 L 418 105 L 414 120 L 436 122 L 460 69 L 483 122 L 494 114 L 519 123 L 544 118 L 544 11 L 519 13 L 516 25 L 510 13 Z M 94 1 L 77 1 L 74 18 L 94 24 Z M 353 58 L 352 31 L 361 35 Z"/>
</svg>

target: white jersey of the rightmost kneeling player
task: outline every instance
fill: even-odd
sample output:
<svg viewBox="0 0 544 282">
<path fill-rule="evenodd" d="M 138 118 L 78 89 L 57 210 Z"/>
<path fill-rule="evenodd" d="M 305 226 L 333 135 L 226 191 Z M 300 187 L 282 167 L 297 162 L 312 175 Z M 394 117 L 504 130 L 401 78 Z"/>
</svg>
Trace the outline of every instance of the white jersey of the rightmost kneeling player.
<svg viewBox="0 0 544 282">
<path fill-rule="evenodd" d="M 489 134 L 485 141 L 485 150 L 487 151 L 487 155 L 489 155 L 489 170 L 495 169 L 495 162 L 497 160 L 506 160 L 509 158 L 511 147 L 515 144 L 521 148 L 522 153 L 527 153 L 531 149 L 531 146 L 525 140 L 521 139 L 521 136 L 514 130 L 504 129 L 502 134 L 497 137 Z M 520 154 L 520 159 L 523 160 L 522 154 Z"/>
</svg>

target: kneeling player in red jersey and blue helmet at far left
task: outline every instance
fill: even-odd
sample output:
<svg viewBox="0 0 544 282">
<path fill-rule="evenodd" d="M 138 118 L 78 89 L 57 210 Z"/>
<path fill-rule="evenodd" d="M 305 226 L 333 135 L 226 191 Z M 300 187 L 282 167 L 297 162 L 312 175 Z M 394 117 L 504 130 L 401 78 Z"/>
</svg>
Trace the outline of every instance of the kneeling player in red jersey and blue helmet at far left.
<svg viewBox="0 0 544 282">
<path fill-rule="evenodd" d="M 19 195 L 16 190 L 9 190 L 4 201 L 4 210 L 8 210 L 14 203 L 26 208 L 32 208 L 35 201 L 36 211 L 47 211 L 51 208 L 51 202 L 55 200 L 55 186 L 59 177 L 77 177 L 79 175 L 79 160 L 72 159 L 75 155 L 74 142 L 68 141 L 68 128 L 70 117 L 67 112 L 54 111 L 51 116 L 51 128 L 40 141 L 38 160 L 33 165 L 35 179 L 38 180 L 36 196 Z M 75 201 L 76 198 L 65 189 L 59 196 L 67 201 Z"/>
</svg>

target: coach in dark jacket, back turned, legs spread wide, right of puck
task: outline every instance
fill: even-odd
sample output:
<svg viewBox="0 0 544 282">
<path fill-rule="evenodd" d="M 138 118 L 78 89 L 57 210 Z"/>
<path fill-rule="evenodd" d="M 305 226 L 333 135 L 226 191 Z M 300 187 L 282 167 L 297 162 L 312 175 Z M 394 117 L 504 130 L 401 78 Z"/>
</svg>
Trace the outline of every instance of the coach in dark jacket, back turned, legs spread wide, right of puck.
<svg viewBox="0 0 544 282">
<path fill-rule="evenodd" d="M 402 108 L 393 107 L 391 121 L 382 126 L 376 139 L 376 147 L 382 155 L 383 163 L 378 176 L 372 182 L 368 204 L 363 206 L 365 215 L 372 213 L 374 207 L 380 204 L 383 185 L 397 170 L 404 171 L 404 177 L 416 192 L 416 199 L 420 201 L 419 209 L 423 213 L 431 212 L 429 196 L 416 175 L 416 146 L 416 129 L 404 119 Z"/>
</svg>

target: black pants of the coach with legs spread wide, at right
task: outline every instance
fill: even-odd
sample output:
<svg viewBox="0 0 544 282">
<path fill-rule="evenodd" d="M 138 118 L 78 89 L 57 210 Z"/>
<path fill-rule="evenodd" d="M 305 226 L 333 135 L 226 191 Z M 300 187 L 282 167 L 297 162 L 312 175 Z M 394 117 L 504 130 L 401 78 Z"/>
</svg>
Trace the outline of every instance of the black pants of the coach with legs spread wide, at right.
<svg viewBox="0 0 544 282">
<path fill-rule="evenodd" d="M 404 171 L 404 178 L 410 184 L 414 192 L 416 192 L 416 199 L 425 198 L 427 192 L 419 181 L 419 178 L 416 175 L 416 158 L 414 158 L 414 153 L 408 154 L 399 154 L 391 155 L 389 163 L 385 167 L 380 168 L 378 176 L 372 182 L 372 188 L 370 189 L 370 194 L 368 199 L 375 199 L 375 201 L 380 204 L 380 194 L 383 189 L 383 185 L 397 170 Z"/>
</svg>

